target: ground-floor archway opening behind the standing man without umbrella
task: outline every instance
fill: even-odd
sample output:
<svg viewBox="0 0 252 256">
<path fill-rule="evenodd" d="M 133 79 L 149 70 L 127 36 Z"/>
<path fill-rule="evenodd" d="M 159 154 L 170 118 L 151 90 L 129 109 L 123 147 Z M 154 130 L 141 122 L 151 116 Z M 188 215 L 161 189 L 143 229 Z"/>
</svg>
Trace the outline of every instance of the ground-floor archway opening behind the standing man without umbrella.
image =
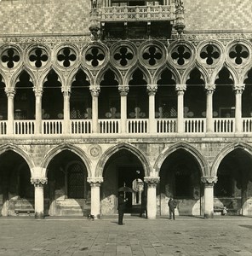
<svg viewBox="0 0 252 256">
<path fill-rule="evenodd" d="M 160 169 L 158 194 L 161 215 L 168 214 L 168 201 L 177 201 L 176 214 L 202 214 L 201 170 L 198 160 L 185 149 L 179 148 L 163 161 Z"/>
</svg>

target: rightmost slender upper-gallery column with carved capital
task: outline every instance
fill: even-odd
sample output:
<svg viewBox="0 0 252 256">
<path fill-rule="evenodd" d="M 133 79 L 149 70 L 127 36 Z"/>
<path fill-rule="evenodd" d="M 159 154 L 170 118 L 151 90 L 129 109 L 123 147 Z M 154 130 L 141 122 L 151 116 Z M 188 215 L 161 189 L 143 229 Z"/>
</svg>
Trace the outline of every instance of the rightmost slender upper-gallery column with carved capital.
<svg viewBox="0 0 252 256">
<path fill-rule="evenodd" d="M 242 123 L 242 94 L 245 88 L 244 84 L 236 84 L 235 90 L 235 131 L 241 132 L 243 130 Z"/>
</svg>

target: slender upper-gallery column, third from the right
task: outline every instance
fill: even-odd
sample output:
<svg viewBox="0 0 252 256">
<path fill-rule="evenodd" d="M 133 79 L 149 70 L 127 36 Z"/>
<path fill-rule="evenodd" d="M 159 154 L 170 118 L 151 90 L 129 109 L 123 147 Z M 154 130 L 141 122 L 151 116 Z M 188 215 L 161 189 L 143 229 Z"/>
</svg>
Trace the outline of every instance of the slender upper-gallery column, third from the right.
<svg viewBox="0 0 252 256">
<path fill-rule="evenodd" d="M 177 84 L 176 91 L 178 94 L 178 117 L 177 117 L 177 132 L 184 132 L 184 93 L 186 90 L 186 84 Z"/>
</svg>

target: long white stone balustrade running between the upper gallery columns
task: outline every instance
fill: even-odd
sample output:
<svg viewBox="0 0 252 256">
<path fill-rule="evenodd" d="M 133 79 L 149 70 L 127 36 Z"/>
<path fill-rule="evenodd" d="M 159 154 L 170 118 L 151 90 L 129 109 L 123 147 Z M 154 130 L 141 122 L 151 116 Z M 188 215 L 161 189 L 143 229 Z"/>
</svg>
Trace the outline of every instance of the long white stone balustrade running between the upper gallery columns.
<svg viewBox="0 0 252 256">
<path fill-rule="evenodd" d="M 215 134 L 234 134 L 236 132 L 236 119 L 214 118 L 212 132 Z M 186 118 L 184 119 L 183 133 L 203 134 L 207 132 L 207 119 Z M 13 124 L 7 120 L 0 121 L 0 135 L 61 135 L 61 134 L 92 134 L 92 119 L 71 119 L 67 124 L 63 119 L 42 120 L 42 127 L 36 127 L 35 120 L 14 120 Z M 100 134 L 175 134 L 178 131 L 177 119 L 126 119 L 125 127 L 122 127 L 121 119 L 99 119 L 97 131 Z M 151 127 L 152 125 L 152 127 Z M 69 127 L 70 126 L 70 127 Z M 242 133 L 252 133 L 252 118 L 241 119 L 240 129 Z M 151 129 L 152 128 L 152 129 Z M 39 131 L 41 131 L 39 133 Z"/>
</svg>

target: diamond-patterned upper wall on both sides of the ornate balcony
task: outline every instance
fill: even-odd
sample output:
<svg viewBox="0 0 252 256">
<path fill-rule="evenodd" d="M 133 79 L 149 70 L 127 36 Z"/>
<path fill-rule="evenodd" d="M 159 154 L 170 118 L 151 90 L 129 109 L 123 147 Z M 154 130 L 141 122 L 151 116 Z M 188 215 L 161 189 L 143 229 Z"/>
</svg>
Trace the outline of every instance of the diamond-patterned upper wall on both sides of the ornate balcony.
<svg viewBox="0 0 252 256">
<path fill-rule="evenodd" d="M 0 35 L 89 32 L 91 0 L 2 0 Z M 183 0 L 186 31 L 252 30 L 251 0 Z"/>
</svg>

